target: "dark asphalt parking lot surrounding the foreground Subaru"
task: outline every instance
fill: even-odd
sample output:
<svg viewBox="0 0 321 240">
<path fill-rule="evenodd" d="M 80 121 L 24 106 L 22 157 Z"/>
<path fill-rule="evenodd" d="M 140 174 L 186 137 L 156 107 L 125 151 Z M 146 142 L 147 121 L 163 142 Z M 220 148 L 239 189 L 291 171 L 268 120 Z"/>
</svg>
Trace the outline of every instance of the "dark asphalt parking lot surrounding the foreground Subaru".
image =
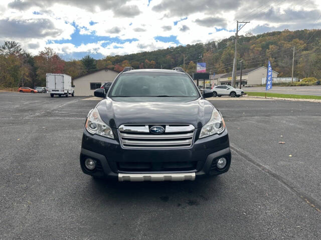
<svg viewBox="0 0 321 240">
<path fill-rule="evenodd" d="M 320 103 L 213 100 L 227 173 L 107 182 L 79 166 L 83 98 L 0 92 L 0 239 L 321 238 Z"/>
</svg>

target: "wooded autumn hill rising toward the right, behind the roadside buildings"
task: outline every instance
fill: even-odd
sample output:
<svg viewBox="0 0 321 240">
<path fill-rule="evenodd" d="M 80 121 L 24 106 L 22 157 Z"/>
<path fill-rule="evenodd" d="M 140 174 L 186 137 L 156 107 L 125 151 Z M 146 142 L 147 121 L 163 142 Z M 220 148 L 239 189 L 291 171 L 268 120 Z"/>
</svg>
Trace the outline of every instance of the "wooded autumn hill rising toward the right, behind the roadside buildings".
<svg viewBox="0 0 321 240">
<path fill-rule="evenodd" d="M 102 65 L 122 68 L 173 68 L 184 66 L 188 72 L 196 70 L 196 62 L 206 62 L 208 72 L 225 73 L 232 71 L 235 37 L 171 47 L 167 49 L 139 52 L 128 55 L 107 56 Z M 290 76 L 292 70 L 293 46 L 295 46 L 295 76 L 321 77 L 321 30 L 273 31 L 258 35 L 251 33 L 238 38 L 238 60 L 243 59 L 243 67 L 251 68 L 267 65 L 270 60 L 279 76 Z M 238 65 L 238 69 L 239 69 Z"/>
</svg>

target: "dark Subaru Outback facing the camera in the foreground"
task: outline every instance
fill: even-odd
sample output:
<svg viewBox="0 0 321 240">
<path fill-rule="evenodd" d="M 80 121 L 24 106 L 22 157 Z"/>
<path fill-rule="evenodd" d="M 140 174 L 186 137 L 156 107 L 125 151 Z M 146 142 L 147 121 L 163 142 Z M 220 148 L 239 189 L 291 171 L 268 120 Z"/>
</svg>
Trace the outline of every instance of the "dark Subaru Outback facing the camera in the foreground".
<svg viewBox="0 0 321 240">
<path fill-rule="evenodd" d="M 228 171 L 229 137 L 221 113 L 180 67 L 126 67 L 95 90 L 103 99 L 86 118 L 84 173 L 119 181 L 194 180 Z"/>
</svg>

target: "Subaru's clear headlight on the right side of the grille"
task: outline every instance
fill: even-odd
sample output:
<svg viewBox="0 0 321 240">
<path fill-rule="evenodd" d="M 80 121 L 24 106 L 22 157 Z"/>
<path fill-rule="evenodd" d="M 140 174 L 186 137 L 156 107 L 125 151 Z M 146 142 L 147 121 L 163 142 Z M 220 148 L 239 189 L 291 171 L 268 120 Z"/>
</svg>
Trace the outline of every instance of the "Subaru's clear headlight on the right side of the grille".
<svg viewBox="0 0 321 240">
<path fill-rule="evenodd" d="M 199 138 L 219 134 L 225 129 L 225 122 L 221 113 L 214 108 L 210 120 L 202 127 Z"/>
</svg>

